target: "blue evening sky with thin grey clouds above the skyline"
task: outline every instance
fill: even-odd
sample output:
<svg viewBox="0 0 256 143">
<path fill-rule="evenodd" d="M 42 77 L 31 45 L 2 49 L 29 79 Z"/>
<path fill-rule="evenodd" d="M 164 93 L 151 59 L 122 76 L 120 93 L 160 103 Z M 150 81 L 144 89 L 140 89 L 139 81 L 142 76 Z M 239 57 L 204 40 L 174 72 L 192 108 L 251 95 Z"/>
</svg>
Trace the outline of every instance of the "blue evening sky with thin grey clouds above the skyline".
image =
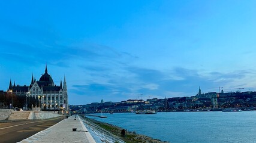
<svg viewBox="0 0 256 143">
<path fill-rule="evenodd" d="M 0 1 L 0 90 L 47 63 L 70 104 L 256 91 L 256 1 Z"/>
</svg>

